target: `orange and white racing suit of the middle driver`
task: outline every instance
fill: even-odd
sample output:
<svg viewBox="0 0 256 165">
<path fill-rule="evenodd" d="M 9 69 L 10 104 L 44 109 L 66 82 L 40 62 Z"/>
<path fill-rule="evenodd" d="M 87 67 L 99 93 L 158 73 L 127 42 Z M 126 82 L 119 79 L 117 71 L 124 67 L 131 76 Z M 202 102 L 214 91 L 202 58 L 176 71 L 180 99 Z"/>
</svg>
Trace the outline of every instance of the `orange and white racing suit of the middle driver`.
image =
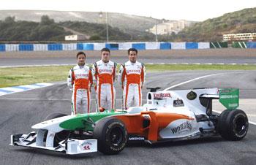
<svg viewBox="0 0 256 165">
<path fill-rule="evenodd" d="M 102 60 L 97 61 L 92 66 L 92 73 L 96 83 L 97 108 L 103 107 L 105 110 L 114 110 L 116 100 L 116 90 L 114 87 L 116 63 L 113 61 L 108 61 L 108 63 Z"/>
</svg>

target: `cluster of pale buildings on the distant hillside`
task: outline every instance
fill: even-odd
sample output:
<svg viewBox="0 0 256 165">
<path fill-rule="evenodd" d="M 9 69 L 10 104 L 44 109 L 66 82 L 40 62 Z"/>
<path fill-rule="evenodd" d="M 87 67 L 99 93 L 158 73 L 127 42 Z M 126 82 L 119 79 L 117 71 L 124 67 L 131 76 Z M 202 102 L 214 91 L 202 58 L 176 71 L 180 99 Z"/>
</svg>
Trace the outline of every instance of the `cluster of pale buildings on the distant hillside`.
<svg viewBox="0 0 256 165">
<path fill-rule="evenodd" d="M 163 34 L 171 34 L 171 33 L 178 33 L 179 31 L 183 30 L 186 27 L 189 27 L 192 24 L 192 21 L 187 20 L 175 20 L 171 22 L 163 22 L 155 25 L 153 28 L 150 28 L 149 31 L 153 34 L 156 34 L 157 28 L 157 35 Z"/>
</svg>

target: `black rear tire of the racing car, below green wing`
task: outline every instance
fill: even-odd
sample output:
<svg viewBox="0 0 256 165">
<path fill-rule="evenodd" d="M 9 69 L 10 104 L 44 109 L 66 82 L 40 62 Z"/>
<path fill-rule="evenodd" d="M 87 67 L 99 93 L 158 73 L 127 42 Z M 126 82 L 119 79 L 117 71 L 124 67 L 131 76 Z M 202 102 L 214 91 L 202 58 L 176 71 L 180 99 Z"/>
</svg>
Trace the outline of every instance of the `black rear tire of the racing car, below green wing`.
<svg viewBox="0 0 256 165">
<path fill-rule="evenodd" d="M 242 110 L 225 110 L 219 115 L 219 134 L 227 140 L 241 140 L 248 131 L 247 115 Z"/>
</svg>

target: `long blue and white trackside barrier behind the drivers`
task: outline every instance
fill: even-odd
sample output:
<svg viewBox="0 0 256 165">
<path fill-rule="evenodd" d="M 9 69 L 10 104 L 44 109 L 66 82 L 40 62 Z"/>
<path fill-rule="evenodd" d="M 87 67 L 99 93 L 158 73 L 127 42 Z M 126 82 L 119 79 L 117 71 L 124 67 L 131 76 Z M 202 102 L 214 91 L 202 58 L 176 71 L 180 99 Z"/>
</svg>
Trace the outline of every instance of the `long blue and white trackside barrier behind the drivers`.
<svg viewBox="0 0 256 165">
<path fill-rule="evenodd" d="M 232 47 L 256 48 L 256 42 L 233 42 Z M 0 44 L 5 51 L 56 51 L 56 50 L 189 50 L 228 47 L 227 42 L 118 42 L 118 43 L 53 43 L 53 44 Z"/>
</svg>

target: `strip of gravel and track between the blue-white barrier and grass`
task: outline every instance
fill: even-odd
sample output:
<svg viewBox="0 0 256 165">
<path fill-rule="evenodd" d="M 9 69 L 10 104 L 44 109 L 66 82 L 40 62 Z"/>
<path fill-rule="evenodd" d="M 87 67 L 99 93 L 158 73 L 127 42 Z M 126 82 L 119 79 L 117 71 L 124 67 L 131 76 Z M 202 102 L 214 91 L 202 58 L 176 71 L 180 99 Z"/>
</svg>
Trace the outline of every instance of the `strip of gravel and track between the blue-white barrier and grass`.
<svg viewBox="0 0 256 165">
<path fill-rule="evenodd" d="M 78 51 L 0 52 L 0 66 L 76 64 Z M 100 51 L 85 51 L 86 63 L 100 59 Z M 111 51 L 111 60 L 127 61 L 126 50 Z M 154 64 L 256 64 L 256 49 L 139 50 L 139 61 Z"/>
</svg>

